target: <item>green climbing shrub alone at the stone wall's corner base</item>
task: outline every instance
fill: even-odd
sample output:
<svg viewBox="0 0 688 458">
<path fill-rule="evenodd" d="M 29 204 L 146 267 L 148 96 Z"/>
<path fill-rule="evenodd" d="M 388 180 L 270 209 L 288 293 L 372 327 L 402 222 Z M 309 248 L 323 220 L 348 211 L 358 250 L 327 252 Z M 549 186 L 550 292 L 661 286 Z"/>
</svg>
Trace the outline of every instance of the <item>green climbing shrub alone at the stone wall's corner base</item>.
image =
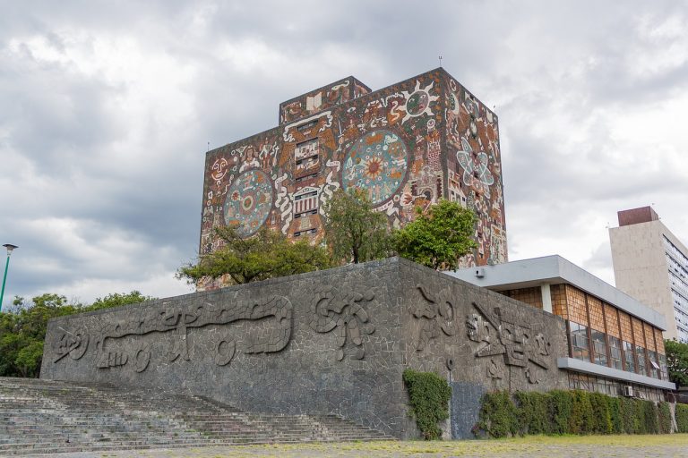
<svg viewBox="0 0 688 458">
<path fill-rule="evenodd" d="M 421 434 L 428 440 L 441 438 L 442 429 L 437 423 L 449 418 L 452 387 L 437 374 L 412 369 L 404 370 L 403 380 Z"/>
</svg>

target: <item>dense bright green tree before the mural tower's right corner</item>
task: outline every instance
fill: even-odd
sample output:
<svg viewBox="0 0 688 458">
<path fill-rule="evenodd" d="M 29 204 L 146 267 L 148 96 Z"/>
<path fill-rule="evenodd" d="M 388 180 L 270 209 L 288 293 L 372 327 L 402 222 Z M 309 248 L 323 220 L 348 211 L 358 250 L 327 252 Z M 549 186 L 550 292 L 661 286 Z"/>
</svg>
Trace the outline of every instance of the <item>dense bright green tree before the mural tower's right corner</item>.
<svg viewBox="0 0 688 458">
<path fill-rule="evenodd" d="M 440 200 L 424 214 L 416 208 L 414 221 L 394 233 L 394 246 L 402 258 L 435 270 L 456 269 L 461 256 L 477 247 L 472 235 L 475 214 L 456 202 Z"/>
</svg>

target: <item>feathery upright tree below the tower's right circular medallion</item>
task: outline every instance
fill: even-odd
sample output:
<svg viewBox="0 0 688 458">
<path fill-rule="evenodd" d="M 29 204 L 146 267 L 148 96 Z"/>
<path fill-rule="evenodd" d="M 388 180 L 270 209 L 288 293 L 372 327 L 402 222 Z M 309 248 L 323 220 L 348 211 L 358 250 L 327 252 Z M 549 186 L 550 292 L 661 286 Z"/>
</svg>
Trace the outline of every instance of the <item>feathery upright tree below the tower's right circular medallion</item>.
<svg viewBox="0 0 688 458">
<path fill-rule="evenodd" d="M 357 264 L 391 256 L 387 216 L 373 210 L 365 191 L 336 191 L 324 212 L 325 237 L 334 259 Z"/>
</svg>

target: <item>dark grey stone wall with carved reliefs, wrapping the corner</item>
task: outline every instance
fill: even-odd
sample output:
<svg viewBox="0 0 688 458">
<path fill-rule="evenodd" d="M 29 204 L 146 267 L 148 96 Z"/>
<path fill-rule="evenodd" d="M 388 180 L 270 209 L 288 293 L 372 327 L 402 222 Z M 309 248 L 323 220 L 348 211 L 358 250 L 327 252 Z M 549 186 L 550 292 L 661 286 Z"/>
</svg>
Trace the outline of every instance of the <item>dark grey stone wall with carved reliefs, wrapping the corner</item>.
<svg viewBox="0 0 688 458">
<path fill-rule="evenodd" d="M 550 390 L 567 386 L 566 354 L 561 318 L 392 258 L 52 319 L 40 377 L 339 414 L 411 438 L 404 369 L 462 396 Z M 444 428 L 464 436 L 477 403 L 454 409 Z"/>
</svg>

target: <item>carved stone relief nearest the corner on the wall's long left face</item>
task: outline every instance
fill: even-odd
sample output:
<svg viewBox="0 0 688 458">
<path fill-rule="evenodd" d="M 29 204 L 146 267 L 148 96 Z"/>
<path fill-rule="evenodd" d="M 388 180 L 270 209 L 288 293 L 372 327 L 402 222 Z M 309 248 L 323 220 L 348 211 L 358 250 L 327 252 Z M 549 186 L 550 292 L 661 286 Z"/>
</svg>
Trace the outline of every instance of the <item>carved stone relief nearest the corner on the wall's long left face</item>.
<svg viewBox="0 0 688 458">
<path fill-rule="evenodd" d="M 332 286 L 319 286 L 311 302 L 309 326 L 317 333 L 334 331 L 337 335 L 337 360 L 344 359 L 344 346 L 351 342 L 357 346 L 354 358 L 362 360 L 366 354 L 362 335 L 374 333 L 363 305 L 373 301 L 374 293 L 340 293 Z"/>
</svg>

